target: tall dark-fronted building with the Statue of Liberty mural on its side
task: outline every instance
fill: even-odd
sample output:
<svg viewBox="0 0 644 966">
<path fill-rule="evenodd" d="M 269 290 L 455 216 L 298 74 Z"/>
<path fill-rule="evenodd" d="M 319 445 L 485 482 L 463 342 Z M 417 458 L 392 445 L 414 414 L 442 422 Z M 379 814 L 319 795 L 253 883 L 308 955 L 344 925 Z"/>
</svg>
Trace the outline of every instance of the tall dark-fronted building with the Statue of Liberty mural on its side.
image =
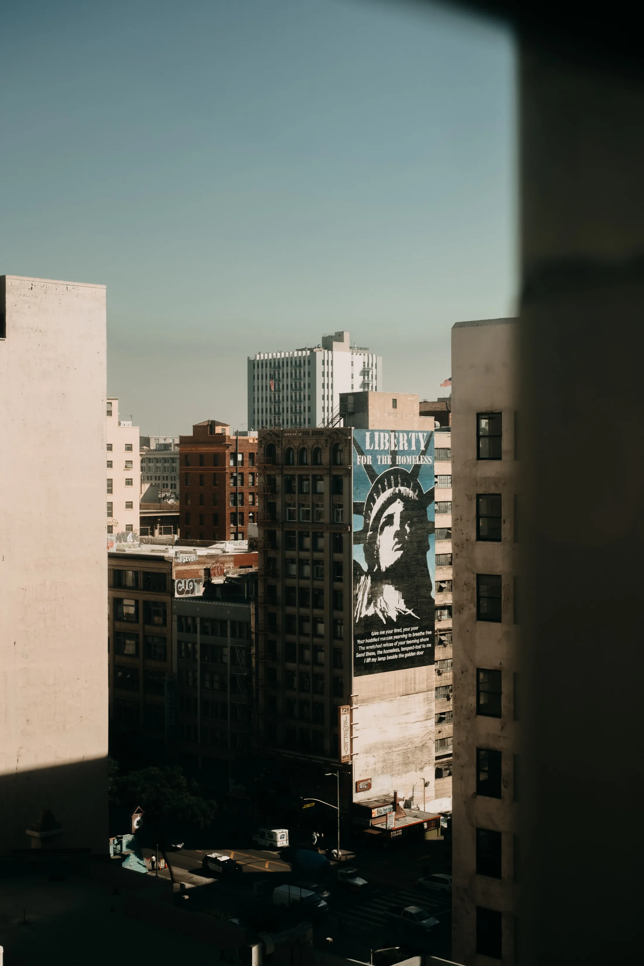
<svg viewBox="0 0 644 966">
<path fill-rule="evenodd" d="M 258 741 L 309 789 L 338 763 L 342 809 L 380 824 L 394 792 L 435 802 L 434 421 L 376 409 L 260 434 Z"/>
</svg>

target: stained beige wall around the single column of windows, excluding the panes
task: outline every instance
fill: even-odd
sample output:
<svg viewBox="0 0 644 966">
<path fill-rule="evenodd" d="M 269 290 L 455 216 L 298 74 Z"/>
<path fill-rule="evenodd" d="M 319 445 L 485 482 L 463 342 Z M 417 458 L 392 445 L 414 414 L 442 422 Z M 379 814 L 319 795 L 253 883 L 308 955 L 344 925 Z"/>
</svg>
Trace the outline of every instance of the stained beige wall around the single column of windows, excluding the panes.
<svg viewBox="0 0 644 966">
<path fill-rule="evenodd" d="M 503 913 L 503 963 L 514 962 L 513 680 L 516 625 L 513 585 L 515 507 L 515 352 L 512 319 L 452 329 L 452 545 L 454 634 L 453 958 L 466 966 L 493 960 L 476 953 L 476 906 Z M 477 412 L 502 412 L 502 459 L 476 458 Z M 502 499 L 502 541 L 476 540 L 476 495 Z M 501 623 L 476 619 L 476 575 L 500 574 Z M 502 717 L 476 714 L 476 668 L 502 671 Z M 476 749 L 502 753 L 502 797 L 476 795 Z M 476 828 L 502 834 L 501 880 L 476 874 Z"/>
</svg>

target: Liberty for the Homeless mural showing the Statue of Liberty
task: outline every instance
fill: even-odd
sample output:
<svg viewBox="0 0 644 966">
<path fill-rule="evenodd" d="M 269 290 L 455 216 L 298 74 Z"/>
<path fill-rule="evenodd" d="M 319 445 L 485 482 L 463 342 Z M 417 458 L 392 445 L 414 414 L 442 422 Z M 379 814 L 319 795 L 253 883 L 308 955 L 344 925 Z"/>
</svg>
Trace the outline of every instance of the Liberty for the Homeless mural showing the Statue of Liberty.
<svg viewBox="0 0 644 966">
<path fill-rule="evenodd" d="M 353 431 L 353 675 L 434 664 L 434 433 Z"/>
</svg>

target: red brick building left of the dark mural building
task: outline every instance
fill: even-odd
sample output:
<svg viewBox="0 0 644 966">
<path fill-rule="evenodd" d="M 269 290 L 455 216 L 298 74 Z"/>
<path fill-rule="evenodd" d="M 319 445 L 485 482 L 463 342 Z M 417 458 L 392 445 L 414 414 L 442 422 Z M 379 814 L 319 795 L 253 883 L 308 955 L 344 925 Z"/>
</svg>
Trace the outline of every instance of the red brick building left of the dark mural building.
<svg viewBox="0 0 644 966">
<path fill-rule="evenodd" d="M 228 423 L 205 419 L 179 438 L 182 537 L 246 540 L 257 523 L 257 434 L 231 436 Z"/>
</svg>

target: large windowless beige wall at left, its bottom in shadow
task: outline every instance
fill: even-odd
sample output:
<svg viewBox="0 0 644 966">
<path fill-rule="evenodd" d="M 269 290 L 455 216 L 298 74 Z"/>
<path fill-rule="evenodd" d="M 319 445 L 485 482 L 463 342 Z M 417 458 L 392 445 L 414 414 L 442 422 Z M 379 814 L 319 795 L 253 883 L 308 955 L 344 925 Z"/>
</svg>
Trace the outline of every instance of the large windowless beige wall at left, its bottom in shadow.
<svg viewBox="0 0 644 966">
<path fill-rule="evenodd" d="M 6 277 L 0 853 L 107 847 L 105 288 Z"/>
</svg>

